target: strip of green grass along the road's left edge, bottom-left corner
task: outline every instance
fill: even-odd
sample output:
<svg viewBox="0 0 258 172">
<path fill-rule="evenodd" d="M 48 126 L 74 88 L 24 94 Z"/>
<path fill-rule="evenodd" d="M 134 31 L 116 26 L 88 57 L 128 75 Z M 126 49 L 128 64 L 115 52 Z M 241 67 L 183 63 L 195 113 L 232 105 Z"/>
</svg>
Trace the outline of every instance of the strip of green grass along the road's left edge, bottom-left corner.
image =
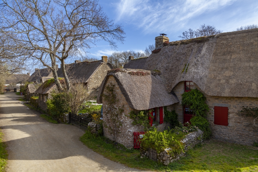
<svg viewBox="0 0 258 172">
<path fill-rule="evenodd" d="M 3 142 L 3 133 L 0 130 L 0 172 L 5 171 L 7 166 L 8 153 L 6 150 L 6 144 Z"/>
</svg>

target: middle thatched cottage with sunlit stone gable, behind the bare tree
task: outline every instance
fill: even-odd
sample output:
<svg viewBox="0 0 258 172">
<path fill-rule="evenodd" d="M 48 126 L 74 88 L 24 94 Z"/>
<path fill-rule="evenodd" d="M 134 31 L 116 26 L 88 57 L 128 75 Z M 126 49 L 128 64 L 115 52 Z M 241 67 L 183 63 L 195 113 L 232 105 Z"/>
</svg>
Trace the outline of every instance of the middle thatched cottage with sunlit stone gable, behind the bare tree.
<svg viewBox="0 0 258 172">
<path fill-rule="evenodd" d="M 75 60 L 74 63 L 67 64 L 65 69 L 71 82 L 84 83 L 87 89 L 96 96 L 107 71 L 114 68 L 107 62 L 107 56 L 102 56 L 101 60 L 93 62 Z M 64 77 L 62 68 L 57 71 L 57 74 L 58 77 Z"/>
</svg>

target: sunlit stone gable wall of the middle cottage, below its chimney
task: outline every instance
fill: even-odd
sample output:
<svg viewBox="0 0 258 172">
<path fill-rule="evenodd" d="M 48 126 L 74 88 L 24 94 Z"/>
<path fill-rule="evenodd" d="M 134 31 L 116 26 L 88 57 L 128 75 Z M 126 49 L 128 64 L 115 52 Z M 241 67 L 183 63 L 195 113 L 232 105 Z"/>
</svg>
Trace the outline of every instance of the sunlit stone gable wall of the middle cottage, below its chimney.
<svg viewBox="0 0 258 172">
<path fill-rule="evenodd" d="M 111 67 L 107 63 L 103 63 L 90 78 L 88 82 L 88 89 L 93 95 L 97 95 L 99 87 L 107 75 L 107 71 L 110 69 Z"/>
</svg>

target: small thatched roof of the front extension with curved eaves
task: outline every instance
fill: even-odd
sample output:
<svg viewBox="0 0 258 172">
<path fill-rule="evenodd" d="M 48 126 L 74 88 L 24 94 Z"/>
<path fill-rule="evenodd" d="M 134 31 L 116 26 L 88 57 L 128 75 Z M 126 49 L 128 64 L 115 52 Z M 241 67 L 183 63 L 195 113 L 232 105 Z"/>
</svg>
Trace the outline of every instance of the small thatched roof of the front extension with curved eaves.
<svg viewBox="0 0 258 172">
<path fill-rule="evenodd" d="M 128 105 L 135 110 L 147 110 L 154 107 L 167 106 L 179 102 L 176 95 L 168 93 L 159 73 L 146 70 L 112 69 L 103 80 L 97 96 L 102 103 L 101 94 L 107 80 L 113 76 L 124 95 Z"/>
</svg>

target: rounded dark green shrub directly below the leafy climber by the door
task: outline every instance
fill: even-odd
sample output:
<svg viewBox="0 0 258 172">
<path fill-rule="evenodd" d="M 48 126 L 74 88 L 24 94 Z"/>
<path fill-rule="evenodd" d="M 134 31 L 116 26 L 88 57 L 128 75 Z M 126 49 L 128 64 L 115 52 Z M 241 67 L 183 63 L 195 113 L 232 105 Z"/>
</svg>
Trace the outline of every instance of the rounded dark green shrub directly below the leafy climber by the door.
<svg viewBox="0 0 258 172">
<path fill-rule="evenodd" d="M 209 139 L 211 136 L 210 123 L 206 118 L 201 116 L 193 116 L 190 119 L 192 126 L 197 126 L 200 130 L 203 131 L 203 138 Z"/>
</svg>

